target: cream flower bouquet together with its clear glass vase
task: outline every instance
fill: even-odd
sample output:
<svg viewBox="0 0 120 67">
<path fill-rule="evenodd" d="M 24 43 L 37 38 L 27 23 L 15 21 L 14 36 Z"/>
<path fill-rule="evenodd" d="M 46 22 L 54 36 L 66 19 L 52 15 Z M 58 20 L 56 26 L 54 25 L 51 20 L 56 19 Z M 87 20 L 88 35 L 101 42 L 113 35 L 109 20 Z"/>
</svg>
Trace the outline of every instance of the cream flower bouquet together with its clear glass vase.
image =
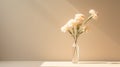
<svg viewBox="0 0 120 67">
<path fill-rule="evenodd" d="M 90 20 L 97 18 L 97 13 L 95 10 L 91 9 L 89 11 L 90 16 L 85 18 L 81 13 L 75 14 L 73 19 L 70 19 L 64 26 L 61 27 L 62 32 L 68 32 L 74 39 L 73 43 L 73 56 L 72 62 L 79 62 L 79 45 L 77 43 L 80 34 L 87 31 L 87 24 Z"/>
</svg>

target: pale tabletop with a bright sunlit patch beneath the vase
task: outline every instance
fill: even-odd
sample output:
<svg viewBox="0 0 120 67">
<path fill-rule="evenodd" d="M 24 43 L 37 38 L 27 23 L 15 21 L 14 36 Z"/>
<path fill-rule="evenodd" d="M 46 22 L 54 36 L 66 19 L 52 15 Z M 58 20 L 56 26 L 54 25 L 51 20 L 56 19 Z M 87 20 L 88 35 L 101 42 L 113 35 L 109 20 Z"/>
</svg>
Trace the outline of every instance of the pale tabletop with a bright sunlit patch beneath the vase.
<svg viewBox="0 0 120 67">
<path fill-rule="evenodd" d="M 120 67 L 118 61 L 0 61 L 0 67 Z"/>
</svg>

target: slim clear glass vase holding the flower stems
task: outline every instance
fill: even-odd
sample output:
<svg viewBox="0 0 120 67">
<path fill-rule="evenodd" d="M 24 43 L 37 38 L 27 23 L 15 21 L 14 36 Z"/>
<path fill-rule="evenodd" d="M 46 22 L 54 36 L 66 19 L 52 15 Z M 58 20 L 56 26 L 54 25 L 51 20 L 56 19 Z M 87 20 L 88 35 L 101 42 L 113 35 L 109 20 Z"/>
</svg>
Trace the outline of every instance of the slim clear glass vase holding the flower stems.
<svg viewBox="0 0 120 67">
<path fill-rule="evenodd" d="M 72 47 L 73 47 L 72 63 L 79 63 L 79 45 L 74 42 Z"/>
</svg>

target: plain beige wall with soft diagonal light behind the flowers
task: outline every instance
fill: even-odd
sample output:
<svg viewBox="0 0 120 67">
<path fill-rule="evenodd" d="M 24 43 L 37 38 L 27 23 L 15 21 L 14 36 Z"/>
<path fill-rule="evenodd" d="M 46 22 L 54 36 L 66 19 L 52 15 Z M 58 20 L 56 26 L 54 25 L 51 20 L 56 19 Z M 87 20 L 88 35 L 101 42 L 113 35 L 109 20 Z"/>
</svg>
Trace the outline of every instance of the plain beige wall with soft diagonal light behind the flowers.
<svg viewBox="0 0 120 67">
<path fill-rule="evenodd" d="M 99 19 L 79 38 L 80 60 L 120 60 L 119 0 L 0 0 L 0 60 L 71 60 L 60 31 L 77 12 Z"/>
</svg>

